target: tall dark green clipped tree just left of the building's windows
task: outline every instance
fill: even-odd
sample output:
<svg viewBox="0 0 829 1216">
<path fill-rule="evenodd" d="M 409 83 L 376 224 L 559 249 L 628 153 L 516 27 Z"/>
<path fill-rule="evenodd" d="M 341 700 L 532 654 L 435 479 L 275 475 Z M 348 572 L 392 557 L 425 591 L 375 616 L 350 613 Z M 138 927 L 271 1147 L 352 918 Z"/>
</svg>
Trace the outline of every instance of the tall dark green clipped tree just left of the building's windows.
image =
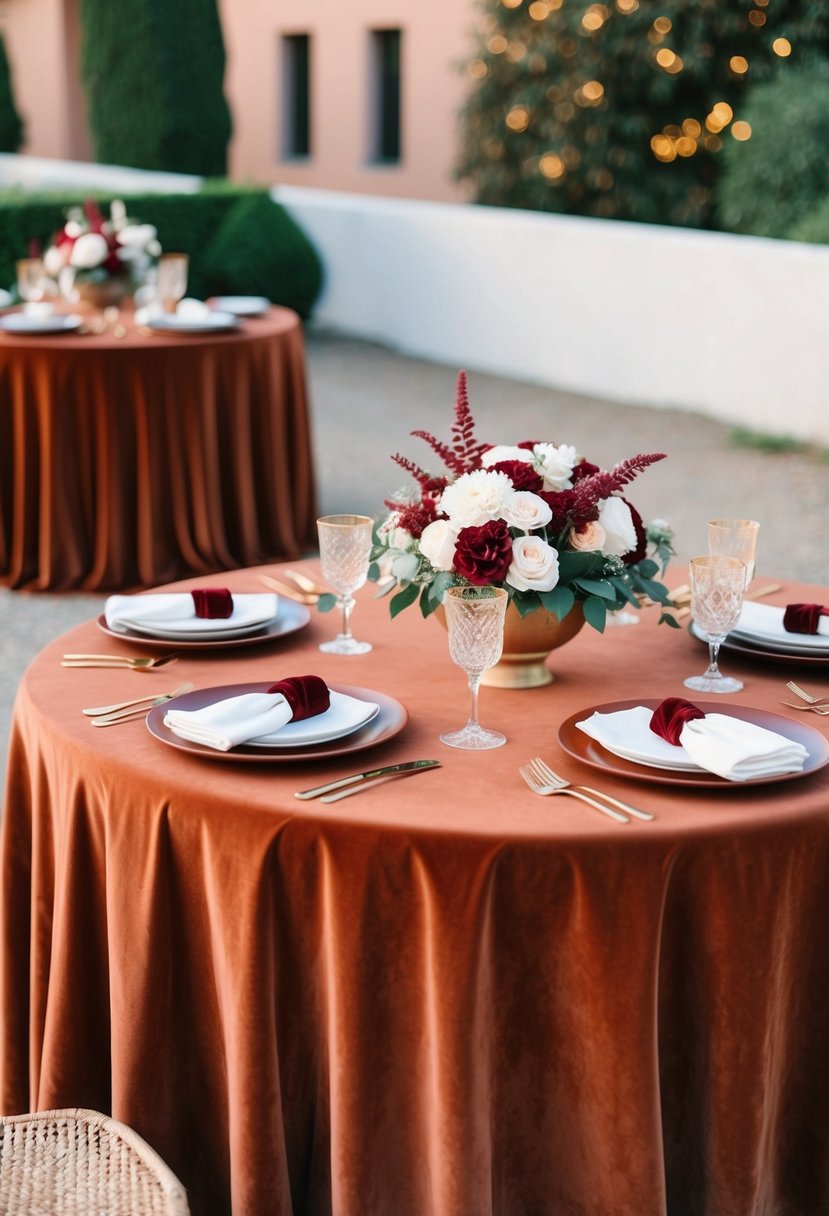
<svg viewBox="0 0 829 1216">
<path fill-rule="evenodd" d="M 81 79 L 95 158 L 219 176 L 231 117 L 216 0 L 81 0 Z"/>
</svg>

